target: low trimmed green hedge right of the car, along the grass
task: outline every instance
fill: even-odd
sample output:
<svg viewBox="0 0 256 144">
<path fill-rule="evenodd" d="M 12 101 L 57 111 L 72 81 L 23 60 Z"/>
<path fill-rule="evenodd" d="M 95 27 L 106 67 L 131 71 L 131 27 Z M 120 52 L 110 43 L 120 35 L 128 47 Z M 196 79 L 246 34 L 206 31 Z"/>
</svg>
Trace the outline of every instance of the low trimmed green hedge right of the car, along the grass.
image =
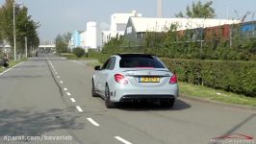
<svg viewBox="0 0 256 144">
<path fill-rule="evenodd" d="M 162 59 L 179 81 L 256 97 L 256 62 Z"/>
</svg>

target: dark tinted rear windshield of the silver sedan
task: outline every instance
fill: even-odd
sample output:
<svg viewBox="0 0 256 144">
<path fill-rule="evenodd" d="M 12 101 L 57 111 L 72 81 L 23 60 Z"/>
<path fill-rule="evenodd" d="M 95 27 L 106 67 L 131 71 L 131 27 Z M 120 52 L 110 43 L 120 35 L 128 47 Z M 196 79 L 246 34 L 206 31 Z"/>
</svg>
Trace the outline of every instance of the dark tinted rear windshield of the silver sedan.
<svg viewBox="0 0 256 144">
<path fill-rule="evenodd" d="M 152 56 L 121 56 L 121 68 L 166 68 L 159 60 Z"/>
</svg>

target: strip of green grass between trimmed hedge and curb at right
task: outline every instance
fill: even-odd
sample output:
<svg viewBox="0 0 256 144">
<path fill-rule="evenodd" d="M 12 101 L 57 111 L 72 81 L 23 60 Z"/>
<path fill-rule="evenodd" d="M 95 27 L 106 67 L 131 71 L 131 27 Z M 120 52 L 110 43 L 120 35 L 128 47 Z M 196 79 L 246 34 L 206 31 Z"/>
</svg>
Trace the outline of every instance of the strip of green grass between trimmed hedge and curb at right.
<svg viewBox="0 0 256 144">
<path fill-rule="evenodd" d="M 256 107 L 256 98 L 182 82 L 179 83 L 179 86 L 180 92 L 186 96 L 205 100 L 214 100 L 228 104 Z"/>
</svg>

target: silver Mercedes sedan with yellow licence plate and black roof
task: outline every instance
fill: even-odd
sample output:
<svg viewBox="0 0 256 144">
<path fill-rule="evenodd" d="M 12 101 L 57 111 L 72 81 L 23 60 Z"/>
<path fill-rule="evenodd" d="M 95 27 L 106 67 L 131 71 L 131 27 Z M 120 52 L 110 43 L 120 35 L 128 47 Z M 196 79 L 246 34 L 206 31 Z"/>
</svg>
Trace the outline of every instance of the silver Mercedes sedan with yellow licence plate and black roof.
<svg viewBox="0 0 256 144">
<path fill-rule="evenodd" d="M 160 102 L 172 108 L 178 97 L 177 77 L 153 55 L 117 54 L 95 66 L 92 96 L 101 96 L 107 108 L 119 102 Z"/>
</svg>

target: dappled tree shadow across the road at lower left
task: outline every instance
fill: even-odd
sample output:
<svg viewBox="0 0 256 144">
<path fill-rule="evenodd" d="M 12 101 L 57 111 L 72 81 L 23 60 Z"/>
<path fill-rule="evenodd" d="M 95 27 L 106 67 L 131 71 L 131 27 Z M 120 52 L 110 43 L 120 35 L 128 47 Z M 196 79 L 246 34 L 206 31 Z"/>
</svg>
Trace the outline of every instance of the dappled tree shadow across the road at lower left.
<svg viewBox="0 0 256 144">
<path fill-rule="evenodd" d="M 33 108 L 5 109 L 0 111 L 0 136 L 38 136 L 55 130 L 83 129 L 83 123 L 77 123 L 72 108 L 52 108 L 45 111 Z"/>
</svg>

